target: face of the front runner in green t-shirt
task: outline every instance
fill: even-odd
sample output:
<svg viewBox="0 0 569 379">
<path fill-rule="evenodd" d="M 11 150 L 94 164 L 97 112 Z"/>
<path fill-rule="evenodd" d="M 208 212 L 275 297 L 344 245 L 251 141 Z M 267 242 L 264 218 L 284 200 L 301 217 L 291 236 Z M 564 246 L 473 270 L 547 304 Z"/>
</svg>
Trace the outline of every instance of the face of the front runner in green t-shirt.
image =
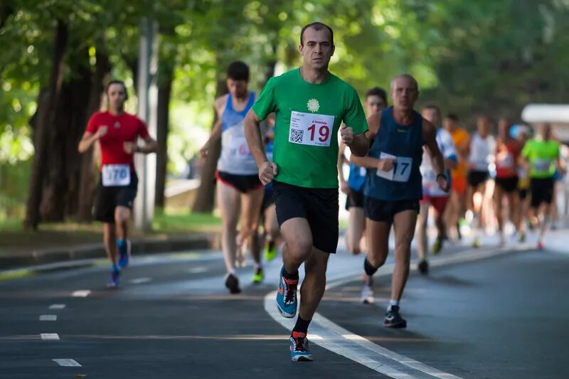
<svg viewBox="0 0 569 379">
<path fill-rule="evenodd" d="M 334 55 L 330 32 L 326 28 L 317 31 L 307 28 L 302 36 L 304 46 L 299 46 L 304 65 L 316 70 L 328 68 L 330 58 Z"/>
</svg>

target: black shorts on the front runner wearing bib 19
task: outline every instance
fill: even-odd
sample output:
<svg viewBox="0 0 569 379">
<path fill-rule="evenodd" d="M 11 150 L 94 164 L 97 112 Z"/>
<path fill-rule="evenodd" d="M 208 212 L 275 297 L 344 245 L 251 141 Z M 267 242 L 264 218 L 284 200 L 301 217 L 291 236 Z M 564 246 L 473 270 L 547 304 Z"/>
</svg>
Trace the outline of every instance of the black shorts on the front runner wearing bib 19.
<svg viewBox="0 0 569 379">
<path fill-rule="evenodd" d="M 338 248 L 338 188 L 305 188 L 274 181 L 273 196 L 279 226 L 291 218 L 305 218 L 312 232 L 312 245 L 323 252 Z"/>
</svg>

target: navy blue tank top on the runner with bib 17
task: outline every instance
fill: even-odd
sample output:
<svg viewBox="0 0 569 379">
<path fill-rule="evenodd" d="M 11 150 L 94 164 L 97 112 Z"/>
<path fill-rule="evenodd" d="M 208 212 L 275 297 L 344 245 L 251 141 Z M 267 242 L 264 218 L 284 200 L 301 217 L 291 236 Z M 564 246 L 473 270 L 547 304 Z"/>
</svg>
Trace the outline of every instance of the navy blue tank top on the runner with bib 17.
<svg viewBox="0 0 569 379">
<path fill-rule="evenodd" d="M 422 198 L 422 117 L 413 111 L 413 122 L 400 125 L 393 118 L 393 107 L 381 112 L 381 127 L 368 152 L 373 158 L 393 158 L 390 171 L 368 169 L 363 193 L 383 201 L 420 200 Z M 378 174 L 379 172 L 379 174 Z"/>
</svg>

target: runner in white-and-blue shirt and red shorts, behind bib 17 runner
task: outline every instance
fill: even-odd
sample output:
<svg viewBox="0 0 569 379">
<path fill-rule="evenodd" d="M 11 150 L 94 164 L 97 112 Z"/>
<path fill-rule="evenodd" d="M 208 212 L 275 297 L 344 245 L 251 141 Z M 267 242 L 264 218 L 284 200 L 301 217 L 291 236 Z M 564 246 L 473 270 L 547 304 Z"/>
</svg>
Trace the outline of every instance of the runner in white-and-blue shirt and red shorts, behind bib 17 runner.
<svg viewBox="0 0 569 379">
<path fill-rule="evenodd" d="M 423 108 L 421 115 L 424 119 L 437 127 L 437 144 L 440 152 L 445 160 L 445 174 L 450 183 L 450 169 L 457 166 L 457 151 L 454 149 L 452 136 L 445 129 L 440 127 L 441 115 L 440 109 L 436 105 L 428 105 Z M 435 208 L 435 225 L 437 226 L 437 239 L 432 247 L 432 253 L 437 254 L 442 250 L 442 240 L 445 235 L 445 222 L 442 215 L 445 213 L 447 201 L 450 193 L 442 191 L 437 184 L 437 173 L 431 164 L 430 155 L 423 148 L 422 163 L 420 166 L 422 175 L 422 201 L 420 201 L 420 212 L 417 218 L 417 227 L 415 228 L 415 237 L 417 237 L 417 252 L 419 255 L 418 269 L 421 274 L 427 274 L 429 271 L 429 263 L 427 262 L 427 220 L 429 218 L 429 208 Z"/>
</svg>

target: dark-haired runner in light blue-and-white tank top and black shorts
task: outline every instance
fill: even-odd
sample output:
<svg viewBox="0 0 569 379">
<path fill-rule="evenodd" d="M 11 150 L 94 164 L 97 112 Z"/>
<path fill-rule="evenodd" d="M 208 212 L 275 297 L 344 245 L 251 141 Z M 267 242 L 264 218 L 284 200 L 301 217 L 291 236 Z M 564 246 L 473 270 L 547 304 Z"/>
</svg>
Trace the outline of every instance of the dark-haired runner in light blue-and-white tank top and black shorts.
<svg viewBox="0 0 569 379">
<path fill-rule="evenodd" d="M 260 243 L 257 237 L 263 198 L 263 186 L 259 180 L 257 164 L 253 158 L 243 131 L 243 119 L 255 102 L 255 92 L 248 90 L 249 68 L 243 62 L 233 62 L 227 69 L 229 93 L 218 97 L 214 103 L 218 121 L 211 136 L 201 148 L 206 156 L 211 145 L 221 137 L 221 154 L 216 171 L 217 198 L 221 211 L 221 249 L 225 260 L 225 287 L 231 294 L 241 292 L 235 272 L 235 263 L 245 264 L 245 244 L 251 250 L 255 262 L 252 282 L 262 282 L 264 273 L 260 260 Z M 204 178 L 206 179 L 206 178 Z M 237 223 L 241 215 L 239 235 Z"/>
</svg>

